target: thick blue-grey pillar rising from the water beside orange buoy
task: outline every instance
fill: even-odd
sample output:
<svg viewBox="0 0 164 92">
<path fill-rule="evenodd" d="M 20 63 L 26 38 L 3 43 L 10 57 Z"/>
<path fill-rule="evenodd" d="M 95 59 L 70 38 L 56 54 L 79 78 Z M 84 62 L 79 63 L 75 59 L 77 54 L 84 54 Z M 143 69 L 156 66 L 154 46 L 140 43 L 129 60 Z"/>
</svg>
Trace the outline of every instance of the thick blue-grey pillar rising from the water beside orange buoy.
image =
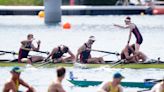
<svg viewBox="0 0 164 92">
<path fill-rule="evenodd" d="M 61 3 L 62 0 L 44 0 L 44 22 L 46 24 L 56 24 L 61 22 Z"/>
</svg>

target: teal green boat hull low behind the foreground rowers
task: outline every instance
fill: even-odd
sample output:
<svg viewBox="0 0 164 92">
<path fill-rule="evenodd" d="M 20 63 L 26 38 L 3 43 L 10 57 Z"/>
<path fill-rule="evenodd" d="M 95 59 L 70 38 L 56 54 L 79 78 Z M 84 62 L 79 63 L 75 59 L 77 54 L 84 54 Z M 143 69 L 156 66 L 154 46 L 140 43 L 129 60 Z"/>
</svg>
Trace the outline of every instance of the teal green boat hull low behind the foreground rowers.
<svg viewBox="0 0 164 92">
<path fill-rule="evenodd" d="M 89 86 L 98 86 L 102 83 L 102 81 L 88 81 L 88 80 L 70 80 L 70 83 L 74 86 L 79 87 L 89 87 Z M 154 82 L 121 82 L 123 87 L 136 87 L 136 88 L 152 88 L 155 83 Z"/>
</svg>

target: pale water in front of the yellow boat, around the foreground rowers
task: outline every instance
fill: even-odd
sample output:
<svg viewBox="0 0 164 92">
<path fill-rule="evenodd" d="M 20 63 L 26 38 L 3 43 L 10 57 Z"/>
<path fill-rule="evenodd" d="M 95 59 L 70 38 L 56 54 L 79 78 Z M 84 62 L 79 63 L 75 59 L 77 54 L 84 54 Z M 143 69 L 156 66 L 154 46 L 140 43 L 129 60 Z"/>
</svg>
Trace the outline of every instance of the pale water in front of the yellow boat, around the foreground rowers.
<svg viewBox="0 0 164 92">
<path fill-rule="evenodd" d="M 0 68 L 0 90 L 4 82 L 10 77 L 9 71 L 12 67 L 3 67 Z M 55 70 L 56 68 L 24 68 L 21 77 L 26 80 L 29 84 L 33 85 L 37 92 L 46 92 L 48 85 L 53 79 L 55 79 Z M 75 77 L 78 79 L 87 79 L 87 80 L 100 80 L 107 81 L 112 79 L 112 75 L 115 72 L 120 72 L 125 76 L 123 81 L 143 81 L 146 78 L 149 79 L 160 79 L 163 78 L 163 69 L 110 69 L 110 68 L 96 68 L 96 69 L 79 69 L 79 68 L 67 68 L 66 78 L 69 78 L 69 72 L 72 71 Z M 145 76 L 146 75 L 146 76 Z M 105 77 L 104 77 L 105 76 Z M 67 80 L 63 81 L 64 88 L 67 92 L 96 92 L 98 86 L 95 87 L 73 87 Z M 21 87 L 21 90 L 24 88 Z M 141 90 L 139 88 L 125 88 L 125 92 L 136 92 Z"/>
</svg>

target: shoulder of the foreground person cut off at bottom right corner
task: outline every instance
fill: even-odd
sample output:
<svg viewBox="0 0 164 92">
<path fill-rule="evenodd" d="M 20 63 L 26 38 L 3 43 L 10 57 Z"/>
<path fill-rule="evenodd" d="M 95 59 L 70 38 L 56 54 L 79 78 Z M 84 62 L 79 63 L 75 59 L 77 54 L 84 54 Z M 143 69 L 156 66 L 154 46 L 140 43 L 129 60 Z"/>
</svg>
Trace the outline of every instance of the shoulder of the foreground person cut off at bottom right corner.
<svg viewBox="0 0 164 92">
<path fill-rule="evenodd" d="M 164 78 L 161 82 L 155 84 L 150 92 L 164 92 Z"/>
</svg>

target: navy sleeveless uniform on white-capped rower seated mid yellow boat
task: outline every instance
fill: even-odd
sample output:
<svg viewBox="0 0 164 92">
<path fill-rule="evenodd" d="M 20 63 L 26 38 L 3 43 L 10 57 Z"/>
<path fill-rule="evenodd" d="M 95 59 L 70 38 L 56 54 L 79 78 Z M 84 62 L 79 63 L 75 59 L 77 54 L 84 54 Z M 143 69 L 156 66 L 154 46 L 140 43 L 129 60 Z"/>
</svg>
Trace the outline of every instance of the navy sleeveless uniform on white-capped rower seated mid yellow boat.
<svg viewBox="0 0 164 92">
<path fill-rule="evenodd" d="M 86 48 L 91 49 L 91 47 L 87 46 L 87 44 L 84 44 Z M 80 53 L 80 62 L 81 63 L 87 63 L 87 59 L 89 59 L 91 57 L 90 55 L 90 50 L 84 50 Z"/>
</svg>

